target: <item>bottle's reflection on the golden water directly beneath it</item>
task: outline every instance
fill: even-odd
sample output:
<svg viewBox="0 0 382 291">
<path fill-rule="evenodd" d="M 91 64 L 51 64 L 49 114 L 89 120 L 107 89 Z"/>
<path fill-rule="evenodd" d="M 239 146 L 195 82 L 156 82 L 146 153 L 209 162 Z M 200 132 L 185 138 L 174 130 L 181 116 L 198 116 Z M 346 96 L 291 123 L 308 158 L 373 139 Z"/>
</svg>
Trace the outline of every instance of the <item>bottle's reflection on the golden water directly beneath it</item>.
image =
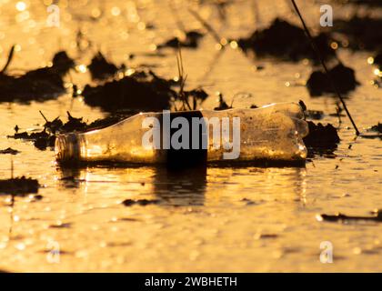
<svg viewBox="0 0 382 291">
<path fill-rule="evenodd" d="M 101 186 L 107 193 L 160 199 L 165 206 L 214 206 L 248 196 L 264 201 L 304 198 L 306 176 L 305 167 L 198 167 L 173 171 L 163 166 L 135 166 L 58 168 L 56 179 L 59 187 L 75 187 L 84 195 L 95 193 Z M 261 192 L 254 188 L 261 188 Z"/>
</svg>

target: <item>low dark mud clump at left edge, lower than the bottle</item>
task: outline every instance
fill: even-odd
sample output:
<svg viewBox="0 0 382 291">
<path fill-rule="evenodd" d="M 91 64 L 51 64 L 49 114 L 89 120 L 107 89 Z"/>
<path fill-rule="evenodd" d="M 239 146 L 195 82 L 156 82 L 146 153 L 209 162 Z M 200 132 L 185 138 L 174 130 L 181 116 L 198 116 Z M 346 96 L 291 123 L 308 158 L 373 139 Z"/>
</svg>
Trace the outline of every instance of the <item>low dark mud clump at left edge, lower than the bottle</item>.
<svg viewBox="0 0 382 291">
<path fill-rule="evenodd" d="M 38 181 L 31 178 L 12 178 L 8 180 L 0 180 L 0 193 L 7 195 L 25 196 L 38 192 L 40 185 Z"/>
</svg>

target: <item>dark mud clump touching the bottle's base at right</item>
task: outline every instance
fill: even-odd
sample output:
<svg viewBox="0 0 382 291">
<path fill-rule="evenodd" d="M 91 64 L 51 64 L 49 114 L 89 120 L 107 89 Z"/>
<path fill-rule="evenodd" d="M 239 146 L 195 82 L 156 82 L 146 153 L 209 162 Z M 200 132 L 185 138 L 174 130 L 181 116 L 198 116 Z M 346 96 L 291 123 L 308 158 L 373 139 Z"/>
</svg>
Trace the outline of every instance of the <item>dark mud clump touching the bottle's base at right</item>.
<svg viewBox="0 0 382 291">
<path fill-rule="evenodd" d="M 307 146 L 309 155 L 315 153 L 325 153 L 333 151 L 340 142 L 337 129 L 331 124 L 317 125 L 312 121 L 307 121 L 309 134 L 304 137 L 304 143 Z"/>
</svg>

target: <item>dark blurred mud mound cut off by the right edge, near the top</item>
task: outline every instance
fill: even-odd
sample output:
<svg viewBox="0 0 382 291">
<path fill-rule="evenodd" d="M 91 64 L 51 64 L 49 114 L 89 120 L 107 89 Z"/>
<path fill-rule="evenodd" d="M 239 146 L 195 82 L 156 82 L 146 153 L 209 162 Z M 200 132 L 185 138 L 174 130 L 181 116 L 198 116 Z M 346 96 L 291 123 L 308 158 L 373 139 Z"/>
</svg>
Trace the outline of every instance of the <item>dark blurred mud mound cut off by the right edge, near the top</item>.
<svg viewBox="0 0 382 291">
<path fill-rule="evenodd" d="M 335 32 L 347 37 L 347 46 L 354 50 L 377 50 L 382 44 L 382 18 L 358 17 L 336 19 Z"/>
</svg>

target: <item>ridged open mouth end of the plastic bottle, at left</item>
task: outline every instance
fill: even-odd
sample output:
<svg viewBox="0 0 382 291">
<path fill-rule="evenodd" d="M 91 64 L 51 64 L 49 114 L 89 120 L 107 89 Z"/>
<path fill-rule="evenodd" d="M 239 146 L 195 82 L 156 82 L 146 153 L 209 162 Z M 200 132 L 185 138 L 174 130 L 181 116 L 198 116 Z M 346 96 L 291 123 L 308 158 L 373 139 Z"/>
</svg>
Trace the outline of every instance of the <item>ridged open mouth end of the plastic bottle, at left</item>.
<svg viewBox="0 0 382 291">
<path fill-rule="evenodd" d="M 58 135 L 55 138 L 55 160 L 60 163 L 79 159 L 79 143 L 76 134 Z"/>
</svg>

